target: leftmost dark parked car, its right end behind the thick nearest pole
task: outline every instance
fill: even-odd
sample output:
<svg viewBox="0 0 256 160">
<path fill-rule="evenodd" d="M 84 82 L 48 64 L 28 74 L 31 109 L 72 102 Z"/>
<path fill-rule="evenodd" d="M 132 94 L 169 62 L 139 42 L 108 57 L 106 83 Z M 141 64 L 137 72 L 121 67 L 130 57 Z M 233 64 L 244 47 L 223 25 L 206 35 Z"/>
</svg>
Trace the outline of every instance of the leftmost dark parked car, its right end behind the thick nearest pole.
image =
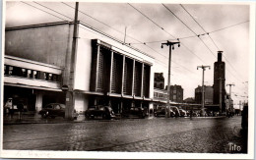
<svg viewBox="0 0 256 160">
<path fill-rule="evenodd" d="M 50 103 L 42 107 L 42 109 L 39 111 L 39 114 L 41 115 L 42 118 L 55 118 L 55 117 L 63 117 L 65 118 L 65 104 L 61 103 Z M 77 119 L 78 118 L 78 113 L 74 109 L 73 112 L 73 118 Z"/>
</svg>

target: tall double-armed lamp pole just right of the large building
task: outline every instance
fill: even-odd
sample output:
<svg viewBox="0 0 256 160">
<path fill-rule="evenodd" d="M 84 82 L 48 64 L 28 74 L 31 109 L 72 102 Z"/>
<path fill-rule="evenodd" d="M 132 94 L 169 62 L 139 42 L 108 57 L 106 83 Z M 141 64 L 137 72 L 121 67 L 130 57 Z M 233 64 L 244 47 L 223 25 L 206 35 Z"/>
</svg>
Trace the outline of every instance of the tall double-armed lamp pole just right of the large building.
<svg viewBox="0 0 256 160">
<path fill-rule="evenodd" d="M 167 106 L 165 109 L 165 117 L 170 117 L 170 113 L 169 113 L 169 95 L 170 95 L 170 62 L 171 62 L 171 49 L 174 49 L 174 44 L 178 44 L 178 47 L 180 47 L 180 42 L 171 42 L 168 41 L 166 43 L 161 43 L 161 48 L 163 48 L 163 45 L 169 46 L 169 62 L 168 62 L 168 84 L 167 84 Z"/>
</svg>

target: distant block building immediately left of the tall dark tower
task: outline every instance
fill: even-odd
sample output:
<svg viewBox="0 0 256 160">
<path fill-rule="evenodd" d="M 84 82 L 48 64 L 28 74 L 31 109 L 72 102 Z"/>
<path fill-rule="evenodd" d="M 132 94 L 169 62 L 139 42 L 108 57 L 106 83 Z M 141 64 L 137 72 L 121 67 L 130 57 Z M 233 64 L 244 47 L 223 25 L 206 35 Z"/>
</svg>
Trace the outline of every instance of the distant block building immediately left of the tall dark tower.
<svg viewBox="0 0 256 160">
<path fill-rule="evenodd" d="M 205 104 L 213 104 L 213 95 L 214 95 L 214 88 L 213 86 L 206 86 L 204 87 L 205 90 Z M 198 85 L 195 88 L 195 102 L 197 104 L 202 103 L 202 86 Z"/>
</svg>

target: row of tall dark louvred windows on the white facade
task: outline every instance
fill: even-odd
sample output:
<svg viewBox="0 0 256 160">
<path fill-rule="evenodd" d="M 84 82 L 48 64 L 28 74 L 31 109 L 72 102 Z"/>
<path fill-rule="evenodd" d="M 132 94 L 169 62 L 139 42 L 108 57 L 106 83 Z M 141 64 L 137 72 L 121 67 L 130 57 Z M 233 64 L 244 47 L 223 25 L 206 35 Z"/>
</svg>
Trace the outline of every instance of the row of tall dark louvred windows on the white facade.
<svg viewBox="0 0 256 160">
<path fill-rule="evenodd" d="M 114 52 L 112 55 L 111 50 L 101 46 L 93 47 L 91 90 L 104 93 L 110 91 L 117 94 L 121 94 L 123 90 L 125 95 L 132 95 L 133 91 L 135 96 L 149 97 L 151 74 L 149 65 L 143 65 L 128 57 L 123 59 L 123 55 L 119 53 Z M 110 74 L 112 76 L 111 84 Z M 134 81 L 132 81 L 133 78 Z"/>
</svg>

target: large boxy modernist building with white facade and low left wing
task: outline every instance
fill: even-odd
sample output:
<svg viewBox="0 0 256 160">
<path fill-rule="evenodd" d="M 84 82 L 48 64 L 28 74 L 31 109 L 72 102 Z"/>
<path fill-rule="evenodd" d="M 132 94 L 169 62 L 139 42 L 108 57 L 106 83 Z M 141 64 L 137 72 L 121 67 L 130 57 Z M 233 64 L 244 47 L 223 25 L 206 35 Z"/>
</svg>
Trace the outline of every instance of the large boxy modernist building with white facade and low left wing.
<svg viewBox="0 0 256 160">
<path fill-rule="evenodd" d="M 77 37 L 73 31 L 68 22 L 6 28 L 4 102 L 23 101 L 29 111 L 52 102 L 81 113 L 93 105 L 153 108 L 153 57 L 82 23 Z"/>
</svg>

